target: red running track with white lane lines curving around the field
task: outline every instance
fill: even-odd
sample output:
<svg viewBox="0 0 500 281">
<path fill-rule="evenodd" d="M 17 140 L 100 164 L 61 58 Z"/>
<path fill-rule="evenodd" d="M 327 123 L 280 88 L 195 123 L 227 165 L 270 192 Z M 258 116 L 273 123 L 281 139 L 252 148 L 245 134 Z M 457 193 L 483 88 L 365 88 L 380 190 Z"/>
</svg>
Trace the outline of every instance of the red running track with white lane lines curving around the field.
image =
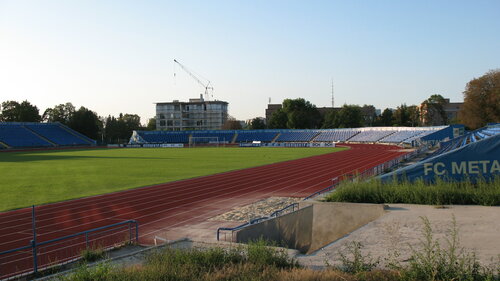
<svg viewBox="0 0 500 281">
<path fill-rule="evenodd" d="M 336 153 L 38 206 L 37 242 L 133 219 L 139 222 L 140 243 L 150 244 L 155 233 L 270 196 L 305 197 L 328 187 L 335 177 L 405 154 L 397 146 L 349 146 Z M 29 245 L 31 239 L 30 208 L 0 213 L 0 252 Z M 45 248 L 49 256 L 39 263 L 79 254 L 70 248 L 68 243 Z M 0 256 L 0 278 L 30 270 L 29 251 Z"/>
</svg>

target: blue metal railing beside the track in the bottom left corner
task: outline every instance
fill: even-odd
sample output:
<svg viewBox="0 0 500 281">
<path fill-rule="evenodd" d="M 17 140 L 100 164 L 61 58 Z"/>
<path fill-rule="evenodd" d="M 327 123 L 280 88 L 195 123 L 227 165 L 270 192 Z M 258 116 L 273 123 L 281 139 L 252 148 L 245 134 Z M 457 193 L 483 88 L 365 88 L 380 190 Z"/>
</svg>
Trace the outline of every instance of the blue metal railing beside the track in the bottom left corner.
<svg viewBox="0 0 500 281">
<path fill-rule="evenodd" d="M 34 208 L 32 214 L 34 216 Z M 134 227 L 135 231 L 133 231 Z M 110 234 L 110 232 L 114 233 Z M 116 233 L 126 233 L 128 234 L 128 239 L 122 239 L 118 241 L 116 241 L 116 239 L 113 240 L 112 236 Z M 92 238 L 91 235 L 100 235 L 100 237 Z M 104 241 L 104 243 L 106 243 L 106 239 L 108 240 L 108 242 L 113 241 L 114 243 L 107 243 L 107 245 L 98 243 L 99 241 Z M 118 243 L 126 243 L 127 240 L 130 243 L 134 240 L 136 242 L 139 242 L 139 223 L 136 220 L 127 220 L 86 231 L 81 231 L 64 237 L 37 242 L 35 220 L 33 219 L 33 240 L 30 241 L 30 244 L 16 249 L 0 252 L 0 258 L 2 258 L 2 256 L 5 257 L 9 254 L 21 256 L 21 258 L 17 259 L 15 259 L 15 257 L 10 257 L 10 259 L 6 262 L 0 263 L 0 279 L 15 278 L 16 276 L 29 274 L 36 275 L 40 269 L 39 266 L 47 268 L 56 264 L 62 264 L 68 261 L 79 259 L 81 251 L 83 249 L 89 249 L 91 248 L 91 246 L 106 246 L 107 248 L 111 248 L 113 245 L 116 245 Z M 69 243 L 69 245 L 62 245 L 66 242 Z M 44 253 L 42 253 L 42 249 L 45 250 Z M 26 250 L 31 250 L 31 254 Z M 69 256 L 58 256 L 58 254 L 67 254 L 68 251 L 71 252 Z M 9 258 L 9 256 L 7 256 L 7 258 Z M 51 258 L 55 259 L 51 260 Z M 31 259 L 32 262 L 29 262 L 29 259 Z M 40 262 L 40 260 L 42 260 L 42 262 Z"/>
</svg>

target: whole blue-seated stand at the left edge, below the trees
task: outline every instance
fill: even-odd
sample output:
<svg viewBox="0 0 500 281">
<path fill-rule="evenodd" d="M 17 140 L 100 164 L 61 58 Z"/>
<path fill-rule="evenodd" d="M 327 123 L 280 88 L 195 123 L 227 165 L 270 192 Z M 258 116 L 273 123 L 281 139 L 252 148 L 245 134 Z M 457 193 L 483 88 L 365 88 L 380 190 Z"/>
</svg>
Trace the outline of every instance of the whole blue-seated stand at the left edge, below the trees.
<svg viewBox="0 0 500 281">
<path fill-rule="evenodd" d="M 0 145 L 11 148 L 57 147 L 72 145 L 95 145 L 95 141 L 84 137 L 60 123 L 0 123 Z"/>
</svg>

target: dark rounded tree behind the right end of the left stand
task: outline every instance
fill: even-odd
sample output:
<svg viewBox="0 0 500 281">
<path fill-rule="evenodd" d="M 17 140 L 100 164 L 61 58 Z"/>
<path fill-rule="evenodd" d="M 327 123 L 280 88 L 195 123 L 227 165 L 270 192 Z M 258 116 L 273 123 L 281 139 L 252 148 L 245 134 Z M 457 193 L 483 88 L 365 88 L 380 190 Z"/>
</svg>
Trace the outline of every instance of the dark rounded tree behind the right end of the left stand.
<svg viewBox="0 0 500 281">
<path fill-rule="evenodd" d="M 99 116 L 97 116 L 97 113 L 83 106 L 71 116 L 68 126 L 91 139 L 101 139 L 99 137 L 99 132 L 102 127 L 102 122 Z"/>
</svg>

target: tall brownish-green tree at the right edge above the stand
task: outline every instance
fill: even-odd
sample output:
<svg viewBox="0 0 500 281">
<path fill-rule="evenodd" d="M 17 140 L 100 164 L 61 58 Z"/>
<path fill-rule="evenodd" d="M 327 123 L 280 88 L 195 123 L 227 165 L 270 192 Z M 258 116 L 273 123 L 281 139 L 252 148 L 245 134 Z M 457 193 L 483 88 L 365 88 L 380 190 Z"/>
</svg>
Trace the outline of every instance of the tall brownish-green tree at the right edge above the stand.
<svg viewBox="0 0 500 281">
<path fill-rule="evenodd" d="M 471 129 L 500 122 L 500 69 L 490 70 L 467 83 L 458 118 Z"/>
</svg>

